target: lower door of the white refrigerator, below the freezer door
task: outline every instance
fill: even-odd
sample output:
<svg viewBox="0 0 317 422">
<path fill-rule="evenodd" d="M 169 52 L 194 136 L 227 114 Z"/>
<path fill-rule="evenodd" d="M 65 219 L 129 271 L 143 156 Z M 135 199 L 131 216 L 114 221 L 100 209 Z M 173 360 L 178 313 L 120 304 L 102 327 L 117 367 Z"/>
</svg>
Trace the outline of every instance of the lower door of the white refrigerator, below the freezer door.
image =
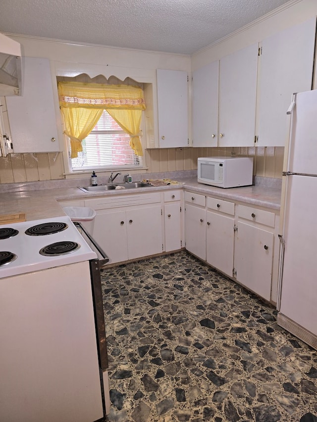
<svg viewBox="0 0 317 422">
<path fill-rule="evenodd" d="M 317 178 L 287 177 L 280 312 L 317 334 Z"/>
</svg>

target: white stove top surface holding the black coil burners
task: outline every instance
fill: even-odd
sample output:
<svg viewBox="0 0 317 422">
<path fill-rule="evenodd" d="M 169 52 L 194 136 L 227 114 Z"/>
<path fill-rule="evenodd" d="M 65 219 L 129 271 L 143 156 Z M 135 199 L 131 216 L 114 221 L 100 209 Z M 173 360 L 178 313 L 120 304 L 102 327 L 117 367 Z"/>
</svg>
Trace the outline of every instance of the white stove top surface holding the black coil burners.
<svg viewBox="0 0 317 422">
<path fill-rule="evenodd" d="M 68 216 L 0 226 L 0 279 L 96 258 Z"/>
</svg>

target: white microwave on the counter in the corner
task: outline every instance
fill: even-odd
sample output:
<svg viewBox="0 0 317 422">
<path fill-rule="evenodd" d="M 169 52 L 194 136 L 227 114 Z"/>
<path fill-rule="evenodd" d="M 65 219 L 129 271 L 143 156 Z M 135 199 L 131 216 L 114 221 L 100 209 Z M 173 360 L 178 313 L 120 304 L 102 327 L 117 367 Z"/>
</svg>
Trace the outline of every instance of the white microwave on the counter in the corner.
<svg viewBox="0 0 317 422">
<path fill-rule="evenodd" d="M 253 183 L 252 157 L 198 158 L 198 182 L 219 188 L 236 188 Z"/>
</svg>

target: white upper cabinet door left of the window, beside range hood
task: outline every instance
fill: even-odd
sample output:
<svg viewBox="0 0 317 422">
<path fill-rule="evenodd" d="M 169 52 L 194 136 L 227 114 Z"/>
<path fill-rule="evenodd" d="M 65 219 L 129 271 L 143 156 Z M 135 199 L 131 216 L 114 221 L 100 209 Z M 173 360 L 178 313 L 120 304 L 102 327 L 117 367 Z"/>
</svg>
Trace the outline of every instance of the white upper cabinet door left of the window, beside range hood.
<svg viewBox="0 0 317 422">
<path fill-rule="evenodd" d="M 14 152 L 59 151 L 50 61 L 24 57 L 22 96 L 6 97 Z"/>
</svg>

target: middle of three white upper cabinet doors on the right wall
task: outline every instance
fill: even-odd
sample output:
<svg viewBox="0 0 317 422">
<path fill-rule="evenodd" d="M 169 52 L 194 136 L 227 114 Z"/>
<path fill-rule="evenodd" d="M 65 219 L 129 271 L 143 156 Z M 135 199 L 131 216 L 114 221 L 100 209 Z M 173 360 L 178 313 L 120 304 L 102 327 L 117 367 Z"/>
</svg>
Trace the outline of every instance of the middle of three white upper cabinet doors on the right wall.
<svg viewBox="0 0 317 422">
<path fill-rule="evenodd" d="M 223 57 L 219 65 L 219 146 L 254 146 L 258 44 Z"/>
</svg>

